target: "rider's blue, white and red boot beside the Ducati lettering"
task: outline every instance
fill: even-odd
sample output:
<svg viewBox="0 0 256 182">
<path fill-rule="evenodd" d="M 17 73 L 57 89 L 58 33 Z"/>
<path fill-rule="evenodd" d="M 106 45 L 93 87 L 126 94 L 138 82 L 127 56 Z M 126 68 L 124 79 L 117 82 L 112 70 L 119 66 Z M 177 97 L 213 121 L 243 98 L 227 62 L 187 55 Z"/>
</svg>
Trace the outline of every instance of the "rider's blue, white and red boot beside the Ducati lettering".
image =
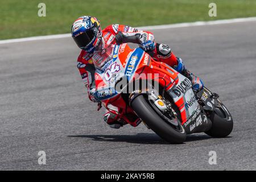
<svg viewBox="0 0 256 182">
<path fill-rule="evenodd" d="M 177 65 L 174 67 L 174 69 L 177 72 L 184 75 L 185 77 L 187 77 L 192 82 L 192 89 L 195 92 L 199 92 L 201 89 L 204 88 L 203 81 L 199 77 L 193 75 L 193 73 L 189 72 L 185 68 L 185 65 L 184 65 L 183 61 L 179 57 L 177 57 Z"/>
</svg>

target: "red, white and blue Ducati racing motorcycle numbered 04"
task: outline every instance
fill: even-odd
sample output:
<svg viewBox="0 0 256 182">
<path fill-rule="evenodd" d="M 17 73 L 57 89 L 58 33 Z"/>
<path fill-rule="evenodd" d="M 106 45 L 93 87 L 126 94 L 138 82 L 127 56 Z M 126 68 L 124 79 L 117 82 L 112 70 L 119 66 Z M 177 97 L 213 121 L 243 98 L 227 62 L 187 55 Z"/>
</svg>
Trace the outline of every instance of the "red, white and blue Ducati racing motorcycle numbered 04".
<svg viewBox="0 0 256 182">
<path fill-rule="evenodd" d="M 192 133 L 220 138 L 232 132 L 232 116 L 218 94 L 207 88 L 193 92 L 187 77 L 141 48 L 116 45 L 112 57 L 96 70 L 94 96 L 125 123 L 143 122 L 170 143 L 183 143 Z"/>
</svg>

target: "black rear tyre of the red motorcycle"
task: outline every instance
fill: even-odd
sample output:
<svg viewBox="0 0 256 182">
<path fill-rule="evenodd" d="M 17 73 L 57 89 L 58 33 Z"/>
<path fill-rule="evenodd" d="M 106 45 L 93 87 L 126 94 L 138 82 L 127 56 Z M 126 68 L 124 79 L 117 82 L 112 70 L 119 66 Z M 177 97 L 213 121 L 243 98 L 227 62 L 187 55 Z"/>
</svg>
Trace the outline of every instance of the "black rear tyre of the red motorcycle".
<svg viewBox="0 0 256 182">
<path fill-rule="evenodd" d="M 227 137 L 233 130 L 233 119 L 228 109 L 218 100 L 220 106 L 216 107 L 210 115 L 212 128 L 205 132 L 210 137 Z"/>
</svg>

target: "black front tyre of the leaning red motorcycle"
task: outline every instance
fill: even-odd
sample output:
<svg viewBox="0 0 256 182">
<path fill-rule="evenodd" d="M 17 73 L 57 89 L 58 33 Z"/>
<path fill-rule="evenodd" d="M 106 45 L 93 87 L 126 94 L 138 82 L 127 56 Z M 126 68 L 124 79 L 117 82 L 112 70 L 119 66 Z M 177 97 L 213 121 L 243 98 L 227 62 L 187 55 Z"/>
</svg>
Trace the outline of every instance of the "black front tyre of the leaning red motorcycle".
<svg viewBox="0 0 256 182">
<path fill-rule="evenodd" d="M 159 137 L 169 143 L 185 142 L 186 133 L 181 123 L 178 122 L 180 130 L 177 130 L 175 127 L 172 127 L 170 123 L 164 121 L 164 119 L 157 114 L 157 111 L 150 106 L 150 103 L 147 102 L 147 98 L 145 98 L 143 94 L 134 98 L 131 102 L 131 107 L 138 117 L 141 118 L 151 130 L 158 134 Z"/>
</svg>

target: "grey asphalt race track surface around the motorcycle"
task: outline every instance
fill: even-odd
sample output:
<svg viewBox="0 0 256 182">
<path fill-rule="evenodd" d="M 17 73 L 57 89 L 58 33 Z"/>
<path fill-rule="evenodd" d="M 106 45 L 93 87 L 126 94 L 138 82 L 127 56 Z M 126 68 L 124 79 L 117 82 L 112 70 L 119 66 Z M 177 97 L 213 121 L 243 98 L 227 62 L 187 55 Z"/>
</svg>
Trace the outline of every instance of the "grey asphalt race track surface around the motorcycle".
<svg viewBox="0 0 256 182">
<path fill-rule="evenodd" d="M 0 45 L 0 169 L 255 170 L 256 22 L 153 32 L 220 94 L 234 119 L 229 137 L 168 144 L 143 124 L 111 129 L 87 98 L 71 38 L 8 43 Z"/>
</svg>

